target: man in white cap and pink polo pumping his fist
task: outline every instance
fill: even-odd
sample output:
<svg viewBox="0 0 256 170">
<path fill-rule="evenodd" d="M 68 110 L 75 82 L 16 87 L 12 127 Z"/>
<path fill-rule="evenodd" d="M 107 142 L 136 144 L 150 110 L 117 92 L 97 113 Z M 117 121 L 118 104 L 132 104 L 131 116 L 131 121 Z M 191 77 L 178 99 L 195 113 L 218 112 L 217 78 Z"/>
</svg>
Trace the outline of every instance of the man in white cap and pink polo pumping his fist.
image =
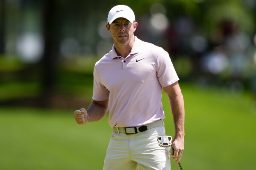
<svg viewBox="0 0 256 170">
<path fill-rule="evenodd" d="M 74 112 L 78 124 L 99 121 L 109 110 L 113 127 L 104 170 L 170 170 L 170 155 L 179 162 L 184 148 L 184 104 L 178 76 L 167 52 L 139 40 L 138 26 L 128 6 L 113 7 L 106 29 L 112 34 L 112 50 L 94 67 L 93 101 L 87 110 Z M 159 147 L 165 135 L 162 89 L 169 97 L 175 136 L 169 154 Z"/>
</svg>

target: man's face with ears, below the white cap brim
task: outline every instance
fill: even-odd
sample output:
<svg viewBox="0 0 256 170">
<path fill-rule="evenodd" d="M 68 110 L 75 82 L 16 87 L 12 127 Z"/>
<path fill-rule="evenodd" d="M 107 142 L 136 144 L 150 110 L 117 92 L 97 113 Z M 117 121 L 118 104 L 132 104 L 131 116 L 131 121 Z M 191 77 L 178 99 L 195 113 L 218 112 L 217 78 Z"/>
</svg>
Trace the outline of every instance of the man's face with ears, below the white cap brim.
<svg viewBox="0 0 256 170">
<path fill-rule="evenodd" d="M 137 27 L 137 22 L 131 23 L 125 18 L 115 19 L 111 25 L 106 24 L 107 30 L 112 34 L 115 44 L 126 45 L 129 44 L 133 38 L 133 32 Z"/>
</svg>

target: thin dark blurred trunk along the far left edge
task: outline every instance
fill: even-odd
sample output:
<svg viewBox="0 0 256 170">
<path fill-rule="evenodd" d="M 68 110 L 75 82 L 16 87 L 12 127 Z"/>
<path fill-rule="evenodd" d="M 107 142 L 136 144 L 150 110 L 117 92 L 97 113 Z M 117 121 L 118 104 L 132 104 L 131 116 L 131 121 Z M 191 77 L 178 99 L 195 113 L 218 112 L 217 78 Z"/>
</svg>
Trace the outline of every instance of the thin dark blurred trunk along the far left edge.
<svg viewBox="0 0 256 170">
<path fill-rule="evenodd" d="M 0 0 L 0 55 L 5 53 L 5 0 Z"/>
</svg>

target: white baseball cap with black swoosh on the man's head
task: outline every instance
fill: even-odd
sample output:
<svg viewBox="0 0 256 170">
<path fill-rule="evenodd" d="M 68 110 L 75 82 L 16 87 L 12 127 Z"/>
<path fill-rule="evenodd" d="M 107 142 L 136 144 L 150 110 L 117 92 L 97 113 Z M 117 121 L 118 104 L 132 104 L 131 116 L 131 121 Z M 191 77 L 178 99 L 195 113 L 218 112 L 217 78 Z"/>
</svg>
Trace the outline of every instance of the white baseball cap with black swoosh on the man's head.
<svg viewBox="0 0 256 170">
<path fill-rule="evenodd" d="M 129 6 L 126 5 L 118 5 L 114 6 L 110 11 L 108 15 L 108 23 L 111 24 L 115 19 L 117 18 L 126 18 L 131 23 L 135 21 L 135 15 L 132 9 L 130 9 Z"/>
</svg>

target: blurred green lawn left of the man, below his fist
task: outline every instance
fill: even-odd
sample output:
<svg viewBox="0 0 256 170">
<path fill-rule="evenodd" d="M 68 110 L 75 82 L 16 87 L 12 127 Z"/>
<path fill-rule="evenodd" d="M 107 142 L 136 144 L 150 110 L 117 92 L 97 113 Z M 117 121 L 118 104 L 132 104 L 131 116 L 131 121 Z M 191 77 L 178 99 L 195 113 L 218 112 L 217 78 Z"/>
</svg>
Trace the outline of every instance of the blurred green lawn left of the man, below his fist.
<svg viewBox="0 0 256 170">
<path fill-rule="evenodd" d="M 1 170 L 101 169 L 111 133 L 107 118 L 79 126 L 73 111 L 5 108 L 0 112 Z"/>
</svg>

